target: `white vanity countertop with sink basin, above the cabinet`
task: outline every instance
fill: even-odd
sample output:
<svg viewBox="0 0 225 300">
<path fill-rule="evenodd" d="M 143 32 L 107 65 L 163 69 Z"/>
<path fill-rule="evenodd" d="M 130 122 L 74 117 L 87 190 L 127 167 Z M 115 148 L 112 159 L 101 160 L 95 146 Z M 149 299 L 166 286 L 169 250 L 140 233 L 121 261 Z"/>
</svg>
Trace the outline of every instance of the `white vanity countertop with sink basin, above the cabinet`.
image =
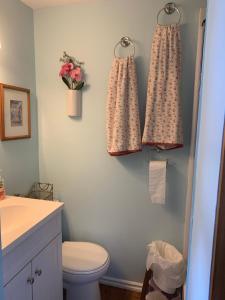
<svg viewBox="0 0 225 300">
<path fill-rule="evenodd" d="M 0 201 L 3 255 L 62 210 L 58 201 L 7 196 Z"/>
</svg>

